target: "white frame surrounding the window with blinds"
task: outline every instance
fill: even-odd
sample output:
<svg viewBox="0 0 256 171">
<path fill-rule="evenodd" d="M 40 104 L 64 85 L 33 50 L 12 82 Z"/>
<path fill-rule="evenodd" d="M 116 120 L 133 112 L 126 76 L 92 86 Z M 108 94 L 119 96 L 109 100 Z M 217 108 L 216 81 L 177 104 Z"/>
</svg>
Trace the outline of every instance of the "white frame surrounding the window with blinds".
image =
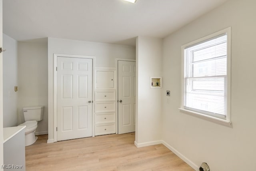
<svg viewBox="0 0 256 171">
<path fill-rule="evenodd" d="M 227 75 L 226 75 L 226 117 L 216 117 L 210 113 L 202 112 L 200 110 L 190 110 L 188 107 L 184 107 L 184 59 L 185 59 L 185 49 L 188 48 L 189 46 L 194 46 L 196 44 L 200 44 L 206 41 L 211 40 L 214 37 L 218 37 L 222 34 L 227 35 Z M 231 101 L 231 27 L 220 30 L 218 32 L 215 32 L 213 34 L 210 34 L 208 36 L 205 36 L 203 38 L 200 38 L 198 40 L 194 40 L 190 43 L 184 44 L 181 46 L 181 101 L 180 101 L 180 111 L 196 115 L 198 117 L 214 121 L 217 123 L 221 123 L 224 125 L 231 126 L 231 111 L 230 111 L 230 101 Z M 224 97 L 225 98 L 225 97 Z"/>
</svg>

